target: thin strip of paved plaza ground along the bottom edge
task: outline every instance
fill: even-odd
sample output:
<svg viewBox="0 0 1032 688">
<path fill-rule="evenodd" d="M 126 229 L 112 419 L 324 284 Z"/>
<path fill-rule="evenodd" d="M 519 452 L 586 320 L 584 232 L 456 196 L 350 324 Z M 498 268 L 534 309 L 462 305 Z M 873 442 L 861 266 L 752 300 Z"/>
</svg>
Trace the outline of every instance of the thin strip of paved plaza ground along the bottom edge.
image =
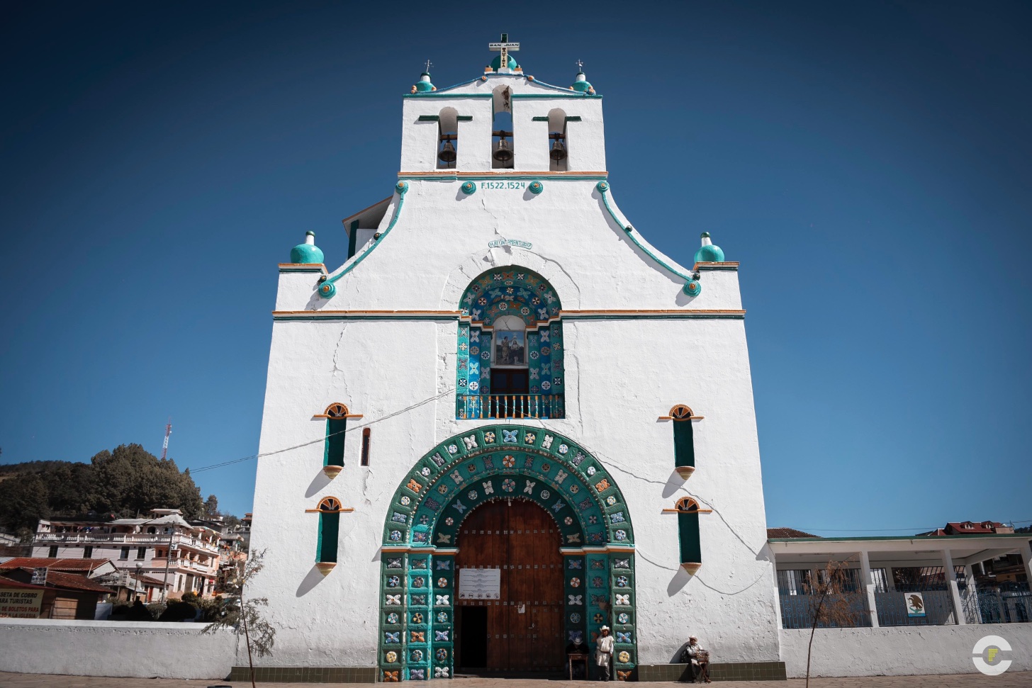
<svg viewBox="0 0 1032 688">
<path fill-rule="evenodd" d="M 453 679 L 433 681 L 439 688 L 583 688 L 584 681 L 538 681 L 525 679 Z M 803 688 L 800 679 L 789 681 L 735 681 L 720 682 L 735 688 Z M 591 682 L 598 685 L 598 682 Z M 93 676 L 56 676 L 50 674 L 0 673 L 0 688 L 206 688 L 231 685 L 247 688 L 248 682 L 234 681 L 184 681 L 176 679 L 110 679 Z M 313 683 L 259 683 L 262 688 L 313 688 L 315 686 L 353 686 L 368 684 L 313 684 Z M 683 683 L 649 682 L 648 688 L 675 688 Z M 981 674 L 954 674 L 947 676 L 873 676 L 860 679 L 810 679 L 811 688 L 1030 688 L 1032 671 L 1007 671 L 1002 676 Z"/>
</svg>

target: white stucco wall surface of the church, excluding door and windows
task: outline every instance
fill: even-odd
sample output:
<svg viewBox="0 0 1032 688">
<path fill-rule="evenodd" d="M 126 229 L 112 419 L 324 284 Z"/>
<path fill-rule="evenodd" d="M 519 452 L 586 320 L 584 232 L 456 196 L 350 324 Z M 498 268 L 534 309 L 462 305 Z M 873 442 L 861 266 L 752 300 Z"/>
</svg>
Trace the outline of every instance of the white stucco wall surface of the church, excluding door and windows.
<svg viewBox="0 0 1032 688">
<path fill-rule="evenodd" d="M 522 92 L 556 92 L 501 76 L 462 87 L 459 95 L 502 83 L 513 86 L 514 127 L 540 125 L 530 116 L 561 107 L 581 118 L 568 129 L 571 169 L 605 169 L 601 100 L 520 99 Z M 336 295 L 319 298 L 318 273 L 281 274 L 259 451 L 314 443 L 258 461 L 252 551 L 267 548 L 269 556 L 253 594 L 269 599 L 270 618 L 282 629 L 275 657 L 264 663 L 377 664 L 380 540 L 391 495 L 436 445 L 495 424 L 455 419 L 457 322 L 442 312 L 458 310 L 471 281 L 503 266 L 540 273 L 562 302 L 567 417 L 508 422 L 571 437 L 618 482 L 637 533 L 637 662 L 671 661 L 689 633 L 705 638 L 722 662 L 776 661 L 776 596 L 745 325 L 705 313 L 742 307 L 737 272 L 706 271 L 702 293 L 686 297 L 684 277 L 631 240 L 622 225 L 633 219 L 614 222 L 606 210 L 595 187 L 601 176 L 546 173 L 540 195 L 525 186 L 490 189 L 477 179 L 477 191 L 465 195 L 461 176 L 406 174 L 432 169 L 427 156 L 437 126 L 418 116 L 445 106 L 474 118 L 459 123 L 457 172 L 471 171 L 466 155 L 476 158 L 472 171 L 489 169 L 480 159 L 489 154 L 489 99 L 449 102 L 445 95 L 405 100 L 404 207 L 390 233 L 335 283 Z M 467 132 L 479 132 L 482 151 L 469 153 Z M 521 169 L 519 150 L 516 155 L 513 172 Z M 395 194 L 379 231 L 386 231 L 399 200 Z M 533 245 L 490 248 L 495 239 Z M 686 241 L 690 256 L 698 238 Z M 725 250 L 733 258 L 733 247 Z M 334 257 L 327 262 L 332 266 Z M 675 266 L 682 273 L 690 268 Z M 605 310 L 607 319 L 576 320 L 570 313 L 587 309 Z M 439 315 L 356 315 L 374 310 Z M 664 313 L 643 313 L 649 310 Z M 296 312 L 305 319 L 286 320 Z M 345 468 L 329 480 L 321 470 L 325 421 L 313 416 L 332 402 L 363 418 L 349 421 Z M 695 422 L 698 470 L 686 482 L 674 472 L 672 424 L 657 420 L 677 403 L 705 417 Z M 367 467 L 359 465 L 364 424 L 372 430 Z M 338 563 L 324 577 L 315 567 L 319 516 L 305 510 L 329 495 L 355 511 L 341 516 Z M 662 513 L 685 495 L 714 510 L 700 518 L 703 568 L 695 577 L 679 567 L 677 516 Z"/>
</svg>

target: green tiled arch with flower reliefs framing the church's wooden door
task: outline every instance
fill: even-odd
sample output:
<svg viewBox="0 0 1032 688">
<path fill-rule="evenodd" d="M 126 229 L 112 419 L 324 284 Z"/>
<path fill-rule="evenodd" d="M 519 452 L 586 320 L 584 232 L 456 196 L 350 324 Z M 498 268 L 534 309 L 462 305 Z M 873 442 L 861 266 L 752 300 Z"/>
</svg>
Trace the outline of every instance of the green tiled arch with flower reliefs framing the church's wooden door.
<svg viewBox="0 0 1032 688">
<path fill-rule="evenodd" d="M 606 467 L 569 438 L 543 428 L 484 426 L 446 439 L 406 476 L 388 509 L 381 561 L 383 681 L 454 673 L 455 555 L 462 520 L 496 499 L 528 499 L 562 537 L 563 643 L 589 642 L 604 623 L 616 640 L 614 669 L 637 663 L 634 529 Z"/>
</svg>

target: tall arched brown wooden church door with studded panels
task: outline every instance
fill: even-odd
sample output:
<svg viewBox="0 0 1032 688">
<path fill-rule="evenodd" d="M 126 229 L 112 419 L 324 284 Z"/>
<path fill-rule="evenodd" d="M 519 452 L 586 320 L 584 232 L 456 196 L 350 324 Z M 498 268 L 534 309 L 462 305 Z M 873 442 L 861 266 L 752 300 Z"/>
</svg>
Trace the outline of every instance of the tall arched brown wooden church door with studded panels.
<svg viewBox="0 0 1032 688">
<path fill-rule="evenodd" d="M 455 562 L 459 671 L 562 670 L 560 544 L 555 522 L 531 501 L 487 502 L 462 522 Z M 499 568 L 499 598 L 463 599 L 463 568 Z"/>
</svg>

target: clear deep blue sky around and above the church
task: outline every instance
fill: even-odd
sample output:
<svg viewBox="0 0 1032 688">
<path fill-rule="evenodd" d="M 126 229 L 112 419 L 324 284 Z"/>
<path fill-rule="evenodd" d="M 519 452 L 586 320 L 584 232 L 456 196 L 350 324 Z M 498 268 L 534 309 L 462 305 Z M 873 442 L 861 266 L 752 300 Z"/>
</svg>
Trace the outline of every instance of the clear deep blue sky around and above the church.
<svg viewBox="0 0 1032 688">
<path fill-rule="evenodd" d="M 741 261 L 770 525 L 1032 519 L 1028 3 L 0 11 L 4 462 L 158 454 L 168 416 L 181 467 L 254 454 L 276 263 L 343 262 L 423 61 L 507 31 L 545 81 L 584 61 L 650 241 Z M 241 514 L 254 470 L 195 478 Z"/>
</svg>

